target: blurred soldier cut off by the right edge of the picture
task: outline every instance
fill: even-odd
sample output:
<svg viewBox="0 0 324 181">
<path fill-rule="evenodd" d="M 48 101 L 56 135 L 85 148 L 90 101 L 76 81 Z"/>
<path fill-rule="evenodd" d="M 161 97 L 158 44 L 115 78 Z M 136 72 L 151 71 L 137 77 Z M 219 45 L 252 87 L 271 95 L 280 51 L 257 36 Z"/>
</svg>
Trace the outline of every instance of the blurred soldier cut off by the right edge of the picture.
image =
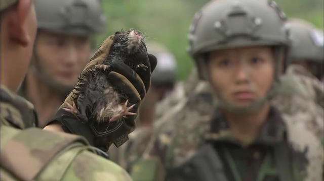
<svg viewBox="0 0 324 181">
<path fill-rule="evenodd" d="M 323 33 L 303 20 L 292 19 L 288 25 L 292 28 L 291 64 L 281 77 L 280 92 L 289 96 L 293 90 L 323 107 Z"/>
</svg>

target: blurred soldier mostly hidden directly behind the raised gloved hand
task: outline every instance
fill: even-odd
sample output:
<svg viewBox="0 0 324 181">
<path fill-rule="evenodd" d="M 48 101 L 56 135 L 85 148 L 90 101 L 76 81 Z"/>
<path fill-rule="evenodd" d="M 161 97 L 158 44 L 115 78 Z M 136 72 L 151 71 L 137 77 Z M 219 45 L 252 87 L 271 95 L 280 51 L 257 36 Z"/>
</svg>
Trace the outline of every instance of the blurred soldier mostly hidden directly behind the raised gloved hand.
<svg viewBox="0 0 324 181">
<path fill-rule="evenodd" d="M 109 159 L 126 170 L 132 167 L 133 163 L 142 156 L 146 149 L 152 136 L 156 111 L 159 112 L 157 108 L 159 104 L 165 98 L 172 97 L 175 100 L 175 93 L 173 92 L 177 80 L 175 57 L 166 47 L 156 42 L 148 42 L 146 46 L 147 51 L 157 57 L 158 63 L 151 76 L 150 90 L 141 103 L 139 115 L 136 119 L 136 129 L 129 135 L 130 140 L 124 145 L 118 148 L 111 147 L 108 151 Z M 183 87 L 180 87 L 176 85 L 177 90 L 183 90 Z M 170 107 L 165 108 L 170 109 Z"/>
</svg>

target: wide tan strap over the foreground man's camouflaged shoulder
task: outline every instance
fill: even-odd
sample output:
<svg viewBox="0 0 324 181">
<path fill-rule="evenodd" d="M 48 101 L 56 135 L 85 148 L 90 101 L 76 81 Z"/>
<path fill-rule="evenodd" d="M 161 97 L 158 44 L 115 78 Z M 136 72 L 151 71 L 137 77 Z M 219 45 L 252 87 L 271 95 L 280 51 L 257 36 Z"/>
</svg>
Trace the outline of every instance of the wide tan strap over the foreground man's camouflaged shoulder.
<svg viewBox="0 0 324 181">
<path fill-rule="evenodd" d="M 29 128 L 2 146 L 1 167 L 20 180 L 33 180 L 62 151 L 86 145 L 88 142 L 79 136 Z"/>
</svg>

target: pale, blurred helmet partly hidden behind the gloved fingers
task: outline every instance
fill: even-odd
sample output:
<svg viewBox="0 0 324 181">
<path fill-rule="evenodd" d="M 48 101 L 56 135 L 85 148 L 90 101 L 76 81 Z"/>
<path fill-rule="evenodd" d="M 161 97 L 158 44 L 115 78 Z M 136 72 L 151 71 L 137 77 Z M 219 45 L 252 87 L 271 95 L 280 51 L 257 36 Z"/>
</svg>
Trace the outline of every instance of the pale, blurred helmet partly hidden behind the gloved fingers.
<svg viewBox="0 0 324 181">
<path fill-rule="evenodd" d="M 156 42 L 147 42 L 147 51 L 158 59 L 157 65 L 151 76 L 153 86 L 173 86 L 177 79 L 176 59 L 163 45 Z"/>
</svg>

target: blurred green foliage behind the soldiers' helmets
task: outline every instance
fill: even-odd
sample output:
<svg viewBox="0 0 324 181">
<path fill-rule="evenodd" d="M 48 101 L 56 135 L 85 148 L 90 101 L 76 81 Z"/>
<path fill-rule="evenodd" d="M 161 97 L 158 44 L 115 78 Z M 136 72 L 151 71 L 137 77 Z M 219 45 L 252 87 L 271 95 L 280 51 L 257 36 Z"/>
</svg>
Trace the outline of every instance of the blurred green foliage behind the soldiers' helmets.
<svg viewBox="0 0 324 181">
<path fill-rule="evenodd" d="M 115 31 L 134 28 L 147 40 L 165 45 L 176 57 L 177 78 L 185 80 L 193 66 L 187 54 L 187 34 L 194 13 L 208 0 L 102 0 L 107 17 L 106 32 L 96 38 L 101 42 Z M 323 0 L 275 1 L 288 18 L 301 18 L 323 29 Z"/>
</svg>

